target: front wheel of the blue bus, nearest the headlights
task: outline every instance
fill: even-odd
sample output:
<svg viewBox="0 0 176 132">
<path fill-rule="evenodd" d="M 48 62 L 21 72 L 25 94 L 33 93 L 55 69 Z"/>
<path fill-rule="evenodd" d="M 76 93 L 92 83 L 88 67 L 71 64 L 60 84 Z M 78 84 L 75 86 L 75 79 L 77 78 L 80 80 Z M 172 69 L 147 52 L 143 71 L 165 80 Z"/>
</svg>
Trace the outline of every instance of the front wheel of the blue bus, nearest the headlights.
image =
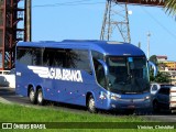
<svg viewBox="0 0 176 132">
<path fill-rule="evenodd" d="M 97 112 L 96 105 L 95 105 L 95 98 L 92 97 L 92 95 L 90 95 L 88 98 L 87 107 L 88 107 L 89 112 L 91 113 Z"/>
</svg>

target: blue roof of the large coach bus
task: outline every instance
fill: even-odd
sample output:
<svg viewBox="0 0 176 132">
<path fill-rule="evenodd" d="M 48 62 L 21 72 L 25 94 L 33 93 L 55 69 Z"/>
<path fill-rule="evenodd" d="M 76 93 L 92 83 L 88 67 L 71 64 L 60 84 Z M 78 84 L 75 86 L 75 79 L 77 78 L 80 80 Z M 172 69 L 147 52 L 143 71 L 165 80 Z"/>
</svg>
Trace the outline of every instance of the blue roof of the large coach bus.
<svg viewBox="0 0 176 132">
<path fill-rule="evenodd" d="M 16 46 L 91 50 L 105 55 L 145 55 L 139 47 L 123 42 L 65 40 L 63 42 L 21 42 Z"/>
</svg>

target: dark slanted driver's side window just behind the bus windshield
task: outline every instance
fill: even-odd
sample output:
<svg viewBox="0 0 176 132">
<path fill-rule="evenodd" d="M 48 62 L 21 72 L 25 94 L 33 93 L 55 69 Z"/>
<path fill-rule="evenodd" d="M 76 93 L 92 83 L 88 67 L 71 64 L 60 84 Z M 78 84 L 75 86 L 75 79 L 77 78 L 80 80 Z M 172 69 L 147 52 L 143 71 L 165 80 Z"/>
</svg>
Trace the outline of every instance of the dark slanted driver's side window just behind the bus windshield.
<svg viewBox="0 0 176 132">
<path fill-rule="evenodd" d="M 106 75 L 105 75 L 103 66 L 96 59 L 94 59 L 94 64 L 95 64 L 97 81 L 100 86 L 106 88 Z"/>
</svg>

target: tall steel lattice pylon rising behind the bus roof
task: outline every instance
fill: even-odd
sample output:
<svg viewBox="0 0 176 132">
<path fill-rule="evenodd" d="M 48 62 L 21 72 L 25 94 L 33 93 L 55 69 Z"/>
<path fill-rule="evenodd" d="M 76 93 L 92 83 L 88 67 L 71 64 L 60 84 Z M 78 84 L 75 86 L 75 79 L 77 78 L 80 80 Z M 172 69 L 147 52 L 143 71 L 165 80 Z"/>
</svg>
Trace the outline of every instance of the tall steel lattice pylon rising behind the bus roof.
<svg viewBox="0 0 176 132">
<path fill-rule="evenodd" d="M 100 40 L 110 41 L 116 33 L 116 29 L 124 42 L 131 42 L 127 3 L 120 4 L 117 0 L 107 0 Z"/>
</svg>

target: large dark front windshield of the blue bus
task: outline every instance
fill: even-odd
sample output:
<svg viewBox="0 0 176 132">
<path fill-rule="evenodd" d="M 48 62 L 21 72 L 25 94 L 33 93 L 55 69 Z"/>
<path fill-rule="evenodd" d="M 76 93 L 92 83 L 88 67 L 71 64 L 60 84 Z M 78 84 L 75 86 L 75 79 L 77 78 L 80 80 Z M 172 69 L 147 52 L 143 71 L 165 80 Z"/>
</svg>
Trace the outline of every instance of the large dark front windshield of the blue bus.
<svg viewBox="0 0 176 132">
<path fill-rule="evenodd" d="M 110 91 L 140 94 L 150 90 L 148 68 L 144 56 L 108 56 Z"/>
</svg>

